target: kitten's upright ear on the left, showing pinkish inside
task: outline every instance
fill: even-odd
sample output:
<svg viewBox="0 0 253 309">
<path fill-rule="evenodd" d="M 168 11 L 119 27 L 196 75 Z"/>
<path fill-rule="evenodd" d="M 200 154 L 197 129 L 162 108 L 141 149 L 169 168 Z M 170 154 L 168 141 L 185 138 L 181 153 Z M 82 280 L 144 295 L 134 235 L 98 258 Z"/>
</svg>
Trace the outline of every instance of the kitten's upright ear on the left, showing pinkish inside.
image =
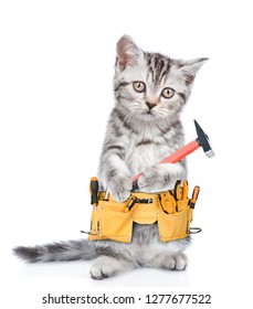
<svg viewBox="0 0 253 309">
<path fill-rule="evenodd" d="M 136 45 L 134 40 L 124 35 L 117 43 L 116 67 L 124 71 L 127 65 L 135 66 L 143 58 L 143 51 Z"/>
</svg>

